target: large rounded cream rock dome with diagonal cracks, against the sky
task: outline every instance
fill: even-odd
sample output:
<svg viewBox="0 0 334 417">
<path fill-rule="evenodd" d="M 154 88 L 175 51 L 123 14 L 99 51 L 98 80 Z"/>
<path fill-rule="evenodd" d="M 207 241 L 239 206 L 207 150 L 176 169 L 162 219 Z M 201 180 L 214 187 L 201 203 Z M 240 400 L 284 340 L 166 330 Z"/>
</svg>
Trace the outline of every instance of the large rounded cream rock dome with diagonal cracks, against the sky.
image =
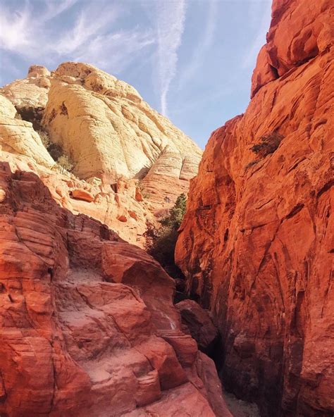
<svg viewBox="0 0 334 417">
<path fill-rule="evenodd" d="M 161 183 L 166 177 L 189 179 L 202 155 L 133 87 L 83 63 L 63 63 L 55 71 L 43 125 L 73 158 L 74 172 L 83 179 L 141 179 L 156 170 L 156 161 Z"/>
</svg>

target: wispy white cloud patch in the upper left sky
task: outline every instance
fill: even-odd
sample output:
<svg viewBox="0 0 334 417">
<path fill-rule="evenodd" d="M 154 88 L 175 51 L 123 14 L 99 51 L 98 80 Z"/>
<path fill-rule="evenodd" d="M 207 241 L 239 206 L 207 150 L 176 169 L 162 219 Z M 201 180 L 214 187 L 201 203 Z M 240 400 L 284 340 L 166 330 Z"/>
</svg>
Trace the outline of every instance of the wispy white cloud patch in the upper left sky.
<svg viewBox="0 0 334 417">
<path fill-rule="evenodd" d="M 116 2 L 47 0 L 36 6 L 26 0 L 16 12 L 11 3 L 1 5 L 0 49 L 29 64 L 54 68 L 62 61 L 86 61 L 117 73 L 154 43 L 152 30 L 114 29 L 125 13 Z"/>
</svg>

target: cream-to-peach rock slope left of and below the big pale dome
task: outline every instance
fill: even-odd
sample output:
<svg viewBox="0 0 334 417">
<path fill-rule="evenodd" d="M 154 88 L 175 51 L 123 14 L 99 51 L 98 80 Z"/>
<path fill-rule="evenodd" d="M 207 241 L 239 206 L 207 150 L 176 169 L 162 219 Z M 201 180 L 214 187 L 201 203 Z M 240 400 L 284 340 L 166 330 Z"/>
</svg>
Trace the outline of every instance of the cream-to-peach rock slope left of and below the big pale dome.
<svg viewBox="0 0 334 417">
<path fill-rule="evenodd" d="M 59 172 L 32 123 L 16 118 L 11 101 L 0 94 L 0 161 L 12 170 L 36 173 L 59 205 L 85 213 L 109 225 L 128 242 L 144 244 L 147 223 L 154 223 L 154 206 L 144 201 L 137 180 L 119 179 L 111 187 L 99 178 L 88 182 Z"/>
</svg>

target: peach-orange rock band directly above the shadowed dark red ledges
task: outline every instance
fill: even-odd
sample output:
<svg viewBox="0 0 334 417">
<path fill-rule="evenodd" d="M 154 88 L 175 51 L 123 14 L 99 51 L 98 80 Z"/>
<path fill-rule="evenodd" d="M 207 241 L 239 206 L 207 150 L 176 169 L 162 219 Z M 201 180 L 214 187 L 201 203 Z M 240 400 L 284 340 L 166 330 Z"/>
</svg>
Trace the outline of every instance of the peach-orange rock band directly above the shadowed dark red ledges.
<svg viewBox="0 0 334 417">
<path fill-rule="evenodd" d="M 57 166 L 50 169 L 35 163 L 32 158 L 11 151 L 0 152 L 0 160 L 8 162 L 12 170 L 36 173 L 60 206 L 74 214 L 84 213 L 96 218 L 116 230 L 128 242 L 144 246 L 146 223 L 154 223 L 155 220 L 147 201 L 137 201 L 136 185 L 132 183 L 136 183 L 135 180 L 129 180 L 128 189 L 114 190 L 110 185 L 101 184 L 97 178 L 79 180 L 74 175 L 61 173 Z M 73 198 L 75 190 L 81 190 L 91 202 L 87 204 L 87 199 Z M 120 222 L 119 216 L 125 216 L 126 223 Z"/>
</svg>

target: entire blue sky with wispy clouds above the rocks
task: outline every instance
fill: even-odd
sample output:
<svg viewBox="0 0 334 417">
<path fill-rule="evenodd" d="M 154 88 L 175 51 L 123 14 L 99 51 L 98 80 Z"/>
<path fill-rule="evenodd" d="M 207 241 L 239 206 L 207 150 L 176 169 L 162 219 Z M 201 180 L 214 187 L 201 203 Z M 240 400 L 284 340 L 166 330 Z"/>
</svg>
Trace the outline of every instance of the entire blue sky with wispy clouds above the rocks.
<svg viewBox="0 0 334 417">
<path fill-rule="evenodd" d="M 204 148 L 245 111 L 271 0 L 0 0 L 0 85 L 83 61 L 133 85 Z"/>
</svg>

